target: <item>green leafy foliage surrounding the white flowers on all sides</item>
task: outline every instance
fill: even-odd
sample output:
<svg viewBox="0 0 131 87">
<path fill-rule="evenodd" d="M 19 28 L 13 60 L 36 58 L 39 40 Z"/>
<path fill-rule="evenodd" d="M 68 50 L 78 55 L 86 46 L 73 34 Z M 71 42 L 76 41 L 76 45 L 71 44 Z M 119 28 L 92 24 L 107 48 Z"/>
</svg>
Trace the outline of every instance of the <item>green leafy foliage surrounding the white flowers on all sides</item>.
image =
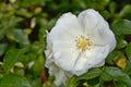
<svg viewBox="0 0 131 87">
<path fill-rule="evenodd" d="M 79 14 L 90 8 L 109 22 L 117 46 L 103 67 L 72 76 L 68 87 L 131 87 L 130 3 L 130 0 L 1 0 L 0 87 L 55 87 L 55 78 L 44 66 L 46 30 L 61 14 L 69 11 Z"/>
</svg>

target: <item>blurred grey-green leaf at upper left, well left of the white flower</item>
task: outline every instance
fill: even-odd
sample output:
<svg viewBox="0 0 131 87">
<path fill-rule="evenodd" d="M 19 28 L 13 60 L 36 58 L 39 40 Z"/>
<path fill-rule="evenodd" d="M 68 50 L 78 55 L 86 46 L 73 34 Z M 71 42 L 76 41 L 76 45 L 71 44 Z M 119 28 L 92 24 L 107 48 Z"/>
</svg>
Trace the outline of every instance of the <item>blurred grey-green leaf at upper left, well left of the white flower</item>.
<svg viewBox="0 0 131 87">
<path fill-rule="evenodd" d="M 12 32 L 13 36 L 14 36 L 14 40 L 16 42 L 23 44 L 23 45 L 28 45 L 28 36 L 22 30 L 22 29 L 13 29 Z"/>
</svg>

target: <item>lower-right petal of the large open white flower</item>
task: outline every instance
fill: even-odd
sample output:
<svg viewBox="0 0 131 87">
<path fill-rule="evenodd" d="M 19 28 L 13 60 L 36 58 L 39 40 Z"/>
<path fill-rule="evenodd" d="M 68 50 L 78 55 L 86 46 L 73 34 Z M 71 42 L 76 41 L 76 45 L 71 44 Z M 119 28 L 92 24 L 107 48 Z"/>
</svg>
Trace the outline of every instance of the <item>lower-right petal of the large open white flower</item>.
<svg viewBox="0 0 131 87">
<path fill-rule="evenodd" d="M 72 73 L 80 76 L 88 71 L 91 67 L 98 67 L 104 65 L 105 59 L 109 53 L 109 47 L 93 47 L 83 53 L 76 61 Z"/>
</svg>

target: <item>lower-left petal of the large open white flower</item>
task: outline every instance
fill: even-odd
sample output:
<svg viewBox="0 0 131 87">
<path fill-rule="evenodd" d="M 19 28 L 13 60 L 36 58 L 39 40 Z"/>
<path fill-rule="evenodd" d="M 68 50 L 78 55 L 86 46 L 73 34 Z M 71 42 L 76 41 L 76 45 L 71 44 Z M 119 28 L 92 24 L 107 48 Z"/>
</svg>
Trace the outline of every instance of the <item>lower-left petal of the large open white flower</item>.
<svg viewBox="0 0 131 87">
<path fill-rule="evenodd" d="M 56 48 L 53 57 L 58 66 L 66 71 L 71 71 L 79 57 L 79 51 L 72 48 L 61 48 L 61 50 Z"/>
</svg>

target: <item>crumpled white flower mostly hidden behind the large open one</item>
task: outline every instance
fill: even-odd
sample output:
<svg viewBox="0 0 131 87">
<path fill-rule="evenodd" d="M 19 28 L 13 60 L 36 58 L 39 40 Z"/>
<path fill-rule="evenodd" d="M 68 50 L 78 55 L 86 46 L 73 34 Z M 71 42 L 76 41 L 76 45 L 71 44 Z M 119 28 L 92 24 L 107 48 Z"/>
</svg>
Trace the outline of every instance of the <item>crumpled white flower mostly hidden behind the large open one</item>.
<svg viewBox="0 0 131 87">
<path fill-rule="evenodd" d="M 67 83 L 68 79 L 73 75 L 69 72 L 63 71 L 62 69 L 60 69 L 59 66 L 56 65 L 55 61 L 53 61 L 53 55 L 52 55 L 52 51 L 51 51 L 51 42 L 49 40 L 48 37 L 48 33 L 47 33 L 47 50 L 45 51 L 46 54 L 46 63 L 45 66 L 49 69 L 49 74 L 51 76 L 55 76 L 55 84 L 57 87 L 59 86 L 64 86 L 67 87 Z"/>
</svg>

